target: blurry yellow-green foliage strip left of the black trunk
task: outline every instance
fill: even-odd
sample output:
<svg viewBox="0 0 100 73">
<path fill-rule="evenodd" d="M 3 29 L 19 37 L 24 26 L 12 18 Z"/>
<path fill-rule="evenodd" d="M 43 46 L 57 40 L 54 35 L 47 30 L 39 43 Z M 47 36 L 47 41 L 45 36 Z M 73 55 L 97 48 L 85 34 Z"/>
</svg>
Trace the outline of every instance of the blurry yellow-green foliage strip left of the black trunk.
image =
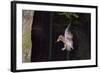
<svg viewBox="0 0 100 73">
<path fill-rule="evenodd" d="M 27 31 L 23 35 L 23 58 L 25 62 L 30 62 L 31 32 Z"/>
</svg>

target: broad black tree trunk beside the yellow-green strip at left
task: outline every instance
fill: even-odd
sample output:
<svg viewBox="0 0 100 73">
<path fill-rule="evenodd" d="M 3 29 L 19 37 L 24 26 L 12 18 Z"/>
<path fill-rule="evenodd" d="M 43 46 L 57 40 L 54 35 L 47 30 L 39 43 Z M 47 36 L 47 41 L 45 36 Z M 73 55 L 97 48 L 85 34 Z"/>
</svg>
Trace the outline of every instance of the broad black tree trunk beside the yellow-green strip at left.
<svg viewBox="0 0 100 73">
<path fill-rule="evenodd" d="M 49 55 L 49 26 L 50 13 L 45 11 L 35 11 L 33 16 L 31 40 L 32 52 L 31 61 L 47 61 Z"/>
</svg>

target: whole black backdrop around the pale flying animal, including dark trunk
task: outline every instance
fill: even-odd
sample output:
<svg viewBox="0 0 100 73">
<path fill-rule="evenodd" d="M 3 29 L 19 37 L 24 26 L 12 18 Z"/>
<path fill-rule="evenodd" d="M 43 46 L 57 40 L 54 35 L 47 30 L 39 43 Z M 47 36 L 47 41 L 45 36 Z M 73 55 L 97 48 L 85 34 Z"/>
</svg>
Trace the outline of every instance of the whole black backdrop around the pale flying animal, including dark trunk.
<svg viewBox="0 0 100 73">
<path fill-rule="evenodd" d="M 35 11 L 31 31 L 31 62 L 85 60 L 91 58 L 90 27 L 91 14 L 75 13 L 78 18 L 60 15 L 60 12 Z M 59 35 L 64 35 L 71 22 L 74 50 L 68 55 L 62 51 L 63 43 L 56 43 Z M 69 59 L 67 57 L 69 56 Z"/>
</svg>

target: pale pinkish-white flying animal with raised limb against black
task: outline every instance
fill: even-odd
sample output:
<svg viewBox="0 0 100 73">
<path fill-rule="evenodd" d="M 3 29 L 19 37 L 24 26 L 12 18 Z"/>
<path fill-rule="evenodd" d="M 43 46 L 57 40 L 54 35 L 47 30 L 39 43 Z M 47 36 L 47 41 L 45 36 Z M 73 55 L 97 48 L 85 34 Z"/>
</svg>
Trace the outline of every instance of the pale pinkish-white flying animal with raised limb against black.
<svg viewBox="0 0 100 73">
<path fill-rule="evenodd" d="M 56 42 L 63 42 L 64 43 L 64 47 L 61 50 L 67 50 L 67 51 L 71 51 L 73 48 L 73 35 L 72 33 L 69 31 L 69 27 L 71 24 L 69 24 L 67 26 L 67 28 L 65 29 L 64 35 L 59 35 L 58 39 Z"/>
</svg>

